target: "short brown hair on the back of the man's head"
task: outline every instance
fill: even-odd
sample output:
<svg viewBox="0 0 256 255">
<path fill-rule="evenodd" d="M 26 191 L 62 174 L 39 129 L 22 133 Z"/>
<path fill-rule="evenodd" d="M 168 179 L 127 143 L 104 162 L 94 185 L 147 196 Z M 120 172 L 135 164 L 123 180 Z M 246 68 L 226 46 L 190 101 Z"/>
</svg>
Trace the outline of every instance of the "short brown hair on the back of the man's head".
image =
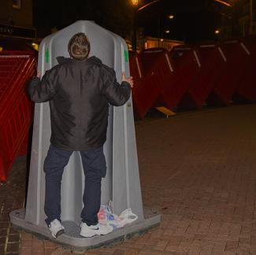
<svg viewBox="0 0 256 255">
<path fill-rule="evenodd" d="M 77 33 L 69 40 L 70 57 L 83 61 L 90 53 L 91 46 L 87 36 L 84 33 Z"/>
</svg>

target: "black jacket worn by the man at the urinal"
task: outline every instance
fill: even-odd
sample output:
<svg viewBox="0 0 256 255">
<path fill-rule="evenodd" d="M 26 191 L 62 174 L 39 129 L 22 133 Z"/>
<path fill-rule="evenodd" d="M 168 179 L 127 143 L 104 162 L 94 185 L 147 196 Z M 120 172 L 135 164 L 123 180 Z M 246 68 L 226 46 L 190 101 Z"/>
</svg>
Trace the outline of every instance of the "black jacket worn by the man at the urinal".
<svg viewBox="0 0 256 255">
<path fill-rule="evenodd" d="M 34 102 L 50 102 L 50 142 L 61 150 L 96 149 L 106 141 L 109 103 L 124 105 L 130 84 L 117 83 L 116 73 L 97 57 L 85 61 L 58 57 L 59 65 L 32 79 Z"/>
</svg>

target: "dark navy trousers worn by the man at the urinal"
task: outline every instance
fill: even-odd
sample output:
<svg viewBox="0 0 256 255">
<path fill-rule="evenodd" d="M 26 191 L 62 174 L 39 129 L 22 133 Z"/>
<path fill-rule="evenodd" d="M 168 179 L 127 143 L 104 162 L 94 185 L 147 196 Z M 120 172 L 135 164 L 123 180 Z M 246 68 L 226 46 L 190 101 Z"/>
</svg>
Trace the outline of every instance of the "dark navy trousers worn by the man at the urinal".
<svg viewBox="0 0 256 255">
<path fill-rule="evenodd" d="M 61 221 L 61 179 L 71 155 L 72 151 L 60 150 L 50 145 L 44 161 L 46 173 L 44 211 L 47 225 L 54 219 Z M 85 176 L 81 219 L 87 225 L 95 225 L 98 224 L 98 211 L 101 205 L 102 177 L 106 176 L 103 146 L 95 150 L 80 151 L 80 155 Z"/>
</svg>

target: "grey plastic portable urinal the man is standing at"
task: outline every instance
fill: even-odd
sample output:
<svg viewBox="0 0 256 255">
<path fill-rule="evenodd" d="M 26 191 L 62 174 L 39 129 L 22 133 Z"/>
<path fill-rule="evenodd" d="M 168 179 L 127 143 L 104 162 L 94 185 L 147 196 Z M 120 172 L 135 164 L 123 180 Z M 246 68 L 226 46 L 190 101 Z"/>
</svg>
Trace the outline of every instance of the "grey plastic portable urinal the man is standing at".
<svg viewBox="0 0 256 255">
<path fill-rule="evenodd" d="M 92 21 L 77 21 L 43 39 L 39 48 L 38 65 L 42 74 L 58 64 L 56 57 L 69 57 L 67 50 L 69 39 L 78 32 L 84 32 L 88 36 L 91 42 L 91 55 L 99 57 L 104 64 L 114 68 L 119 81 L 121 72 L 125 71 L 129 76 L 128 49 L 124 40 Z M 10 219 L 17 227 L 52 238 L 44 222 L 46 216 L 43 211 L 45 191 L 43 161 L 49 146 L 49 104 L 48 102 L 35 104 L 27 206 L 26 209 L 11 212 Z M 147 220 L 143 216 L 132 98 L 124 106 L 109 107 L 109 125 L 104 153 L 107 174 L 106 178 L 102 179 L 102 205 L 108 205 L 109 201 L 112 201 L 113 213 L 117 215 L 124 209 L 131 208 L 138 216 L 138 220 L 109 235 L 80 237 L 84 176 L 80 154 L 74 152 L 65 168 L 61 184 L 61 220 L 65 225 L 65 234 L 54 239 L 55 241 L 76 249 L 87 249 L 115 239 L 124 239 L 127 235 L 143 232 L 160 223 L 160 216 Z"/>
</svg>

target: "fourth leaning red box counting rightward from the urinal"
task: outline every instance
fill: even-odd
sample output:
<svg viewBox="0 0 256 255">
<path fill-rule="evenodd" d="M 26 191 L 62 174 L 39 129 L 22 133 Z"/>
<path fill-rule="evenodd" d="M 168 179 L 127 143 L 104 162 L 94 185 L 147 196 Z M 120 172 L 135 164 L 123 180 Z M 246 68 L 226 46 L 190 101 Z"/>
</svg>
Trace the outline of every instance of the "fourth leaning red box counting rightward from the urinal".
<svg viewBox="0 0 256 255">
<path fill-rule="evenodd" d="M 221 50 L 227 59 L 227 68 L 221 72 L 213 91 L 206 100 L 209 105 L 228 105 L 232 102 L 232 96 L 249 65 L 250 54 L 243 42 L 225 41 L 221 43 Z"/>
</svg>

